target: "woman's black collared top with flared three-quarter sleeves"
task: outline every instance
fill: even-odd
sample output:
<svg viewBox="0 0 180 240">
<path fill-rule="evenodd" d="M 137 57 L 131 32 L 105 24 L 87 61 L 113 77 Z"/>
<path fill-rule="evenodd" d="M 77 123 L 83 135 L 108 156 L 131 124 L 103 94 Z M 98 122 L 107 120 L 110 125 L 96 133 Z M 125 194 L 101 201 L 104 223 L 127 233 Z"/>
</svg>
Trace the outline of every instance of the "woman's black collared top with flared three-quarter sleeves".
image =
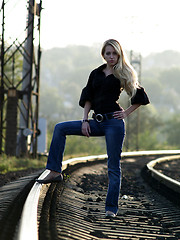
<svg viewBox="0 0 180 240">
<path fill-rule="evenodd" d="M 96 114 L 119 111 L 121 107 L 118 99 L 121 94 L 121 83 L 113 74 L 105 75 L 103 69 L 106 64 L 101 65 L 90 73 L 87 85 L 83 88 L 79 105 L 84 107 L 86 101 L 91 102 L 91 109 Z M 131 104 L 146 105 L 149 103 L 148 96 L 144 88 L 140 87 L 133 98 Z"/>
</svg>

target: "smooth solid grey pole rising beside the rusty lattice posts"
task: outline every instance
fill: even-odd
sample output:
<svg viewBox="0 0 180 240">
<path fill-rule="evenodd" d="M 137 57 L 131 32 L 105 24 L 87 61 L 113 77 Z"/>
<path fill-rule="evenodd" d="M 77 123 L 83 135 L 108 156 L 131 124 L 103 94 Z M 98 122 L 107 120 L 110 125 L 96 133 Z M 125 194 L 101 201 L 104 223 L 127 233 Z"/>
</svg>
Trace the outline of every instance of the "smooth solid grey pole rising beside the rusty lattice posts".
<svg viewBox="0 0 180 240">
<path fill-rule="evenodd" d="M 22 92 L 19 134 L 17 139 L 17 156 L 27 154 L 27 137 L 29 129 L 29 114 L 31 101 L 31 80 L 33 61 L 33 29 L 34 29 L 34 0 L 29 0 L 27 38 L 24 46 Z M 27 129 L 27 130 L 26 130 Z"/>
</svg>

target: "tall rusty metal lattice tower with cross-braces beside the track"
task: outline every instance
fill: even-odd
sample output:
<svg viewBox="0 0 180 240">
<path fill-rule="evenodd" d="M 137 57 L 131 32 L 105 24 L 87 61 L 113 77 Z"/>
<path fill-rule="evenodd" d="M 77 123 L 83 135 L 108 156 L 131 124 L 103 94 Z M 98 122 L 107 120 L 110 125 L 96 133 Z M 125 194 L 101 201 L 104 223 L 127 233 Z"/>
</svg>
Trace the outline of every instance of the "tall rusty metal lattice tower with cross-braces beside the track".
<svg viewBox="0 0 180 240">
<path fill-rule="evenodd" d="M 36 157 L 39 76 L 40 76 L 40 15 L 42 0 L 27 0 L 28 17 L 26 38 L 20 43 L 16 38 L 10 46 L 4 45 L 4 0 L 2 3 L 1 84 L 0 84 L 0 154 Z M 36 17 L 36 18 L 35 18 Z M 38 18 L 38 19 L 37 19 Z M 35 21 L 35 20 L 38 21 Z M 39 37 L 37 54 L 34 48 L 34 32 Z M 22 78 L 16 75 L 16 56 L 23 58 Z M 18 71 L 20 69 L 18 68 Z M 18 134 L 17 134 L 18 132 Z"/>
</svg>

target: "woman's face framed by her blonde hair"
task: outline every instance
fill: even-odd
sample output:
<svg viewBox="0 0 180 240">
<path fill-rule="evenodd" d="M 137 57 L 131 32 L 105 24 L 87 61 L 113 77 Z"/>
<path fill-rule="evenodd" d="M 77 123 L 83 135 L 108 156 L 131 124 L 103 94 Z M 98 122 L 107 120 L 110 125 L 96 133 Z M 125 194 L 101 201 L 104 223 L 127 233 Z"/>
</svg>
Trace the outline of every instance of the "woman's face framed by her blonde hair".
<svg viewBox="0 0 180 240">
<path fill-rule="evenodd" d="M 119 55 L 111 45 L 107 45 L 103 57 L 110 67 L 114 67 L 118 62 Z"/>
</svg>

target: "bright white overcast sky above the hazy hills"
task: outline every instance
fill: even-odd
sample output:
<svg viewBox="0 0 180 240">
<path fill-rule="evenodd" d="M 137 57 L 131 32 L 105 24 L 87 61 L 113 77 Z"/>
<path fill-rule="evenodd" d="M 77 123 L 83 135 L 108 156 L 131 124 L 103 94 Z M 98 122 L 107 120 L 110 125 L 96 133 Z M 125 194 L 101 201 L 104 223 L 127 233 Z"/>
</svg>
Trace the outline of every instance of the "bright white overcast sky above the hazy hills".
<svg viewBox="0 0 180 240">
<path fill-rule="evenodd" d="M 23 39 L 27 1 L 5 3 L 5 37 Z M 42 0 L 42 6 L 43 49 L 102 45 L 115 38 L 124 49 L 144 56 L 180 52 L 180 0 Z"/>
</svg>

